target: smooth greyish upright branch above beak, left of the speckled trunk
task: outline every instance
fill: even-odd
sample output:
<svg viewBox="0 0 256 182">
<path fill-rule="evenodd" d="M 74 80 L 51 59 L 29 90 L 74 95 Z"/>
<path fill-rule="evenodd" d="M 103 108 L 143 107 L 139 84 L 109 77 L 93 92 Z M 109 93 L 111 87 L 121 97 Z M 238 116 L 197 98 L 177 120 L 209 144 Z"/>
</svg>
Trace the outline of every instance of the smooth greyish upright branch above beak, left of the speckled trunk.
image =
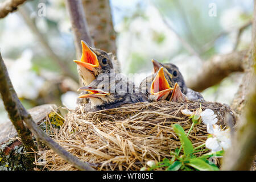
<svg viewBox="0 0 256 182">
<path fill-rule="evenodd" d="M 94 47 L 94 43 L 89 34 L 81 0 L 66 0 L 65 4 L 71 19 L 73 34 L 75 35 L 76 56 L 77 59 L 80 59 L 82 55 L 81 40 L 84 40 L 92 47 Z"/>
</svg>

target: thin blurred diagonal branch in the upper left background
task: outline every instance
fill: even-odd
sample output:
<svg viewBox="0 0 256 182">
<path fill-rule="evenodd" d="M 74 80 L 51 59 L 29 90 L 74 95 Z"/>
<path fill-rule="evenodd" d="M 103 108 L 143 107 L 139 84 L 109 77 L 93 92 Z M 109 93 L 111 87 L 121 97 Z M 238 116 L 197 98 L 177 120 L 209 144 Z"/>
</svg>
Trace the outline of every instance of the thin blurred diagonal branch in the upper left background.
<svg viewBox="0 0 256 182">
<path fill-rule="evenodd" d="M 71 69 L 67 67 L 67 64 L 65 64 L 65 61 L 61 59 L 61 57 L 57 56 L 49 46 L 47 39 L 44 37 L 44 35 L 38 30 L 38 28 L 35 25 L 35 22 L 30 18 L 30 15 L 28 14 L 28 10 L 26 7 L 20 7 L 19 13 L 22 15 L 22 18 L 24 22 L 26 22 L 27 26 L 30 28 L 30 30 L 33 32 L 33 34 L 36 36 L 36 39 L 39 40 L 39 42 L 42 44 L 44 49 L 46 50 L 47 55 L 49 55 L 53 61 L 55 61 L 56 64 L 59 65 L 61 71 L 65 76 L 71 77 L 73 80 L 78 82 L 78 76 L 75 75 Z"/>
</svg>

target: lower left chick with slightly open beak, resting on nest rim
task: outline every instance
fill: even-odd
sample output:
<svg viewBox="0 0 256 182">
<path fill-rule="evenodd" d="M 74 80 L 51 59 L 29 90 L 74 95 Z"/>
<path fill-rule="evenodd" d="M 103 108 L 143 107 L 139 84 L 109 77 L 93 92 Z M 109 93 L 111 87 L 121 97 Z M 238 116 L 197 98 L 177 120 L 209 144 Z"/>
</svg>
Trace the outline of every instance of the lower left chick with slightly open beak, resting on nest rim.
<svg viewBox="0 0 256 182">
<path fill-rule="evenodd" d="M 89 92 L 79 98 L 89 98 L 89 103 L 85 104 L 84 108 L 90 112 L 112 109 L 124 104 L 149 102 L 147 94 L 139 93 L 133 82 L 111 73 L 98 76 L 88 86 L 79 88 L 79 91 L 81 90 Z"/>
</svg>

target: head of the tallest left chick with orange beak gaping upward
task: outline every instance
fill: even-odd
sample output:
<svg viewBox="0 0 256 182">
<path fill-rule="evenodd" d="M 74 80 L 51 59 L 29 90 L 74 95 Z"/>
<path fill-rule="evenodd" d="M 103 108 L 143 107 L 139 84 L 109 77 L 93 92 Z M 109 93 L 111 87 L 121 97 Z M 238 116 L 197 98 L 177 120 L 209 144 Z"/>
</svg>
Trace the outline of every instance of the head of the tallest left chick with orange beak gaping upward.
<svg viewBox="0 0 256 182">
<path fill-rule="evenodd" d="M 82 56 L 80 61 L 74 60 L 74 62 L 80 67 L 80 76 L 85 80 L 86 78 L 96 78 L 101 73 L 110 73 L 113 69 L 112 59 L 105 51 L 88 46 L 83 40 L 82 44 Z M 92 80 L 94 80 L 92 78 Z"/>
</svg>

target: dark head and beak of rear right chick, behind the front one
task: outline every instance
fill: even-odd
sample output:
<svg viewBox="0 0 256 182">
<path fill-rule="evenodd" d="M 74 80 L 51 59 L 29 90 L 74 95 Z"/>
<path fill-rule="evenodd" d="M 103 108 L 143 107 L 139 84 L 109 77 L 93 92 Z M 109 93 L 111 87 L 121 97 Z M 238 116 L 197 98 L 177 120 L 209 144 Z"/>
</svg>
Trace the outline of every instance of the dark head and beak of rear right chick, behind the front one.
<svg viewBox="0 0 256 182">
<path fill-rule="evenodd" d="M 154 73 L 156 73 L 161 67 L 164 67 L 164 69 L 168 72 L 168 75 L 172 75 L 172 86 L 174 86 L 175 82 L 177 82 L 177 84 L 179 84 L 180 86 L 181 92 L 183 92 L 184 94 L 187 93 L 187 86 L 185 85 L 184 78 L 181 75 L 179 68 L 177 68 L 175 64 L 162 64 L 154 59 L 152 59 L 152 63 L 154 65 Z"/>
</svg>

